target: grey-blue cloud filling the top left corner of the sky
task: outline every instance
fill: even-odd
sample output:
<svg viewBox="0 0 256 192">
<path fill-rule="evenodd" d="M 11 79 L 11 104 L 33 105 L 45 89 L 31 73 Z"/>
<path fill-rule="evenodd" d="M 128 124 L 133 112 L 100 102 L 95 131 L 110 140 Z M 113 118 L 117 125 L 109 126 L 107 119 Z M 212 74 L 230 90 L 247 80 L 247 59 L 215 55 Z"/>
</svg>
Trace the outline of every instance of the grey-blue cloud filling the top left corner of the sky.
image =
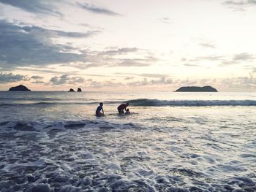
<svg viewBox="0 0 256 192">
<path fill-rule="evenodd" d="M 8 4 L 12 7 L 23 9 L 26 12 L 33 12 L 41 15 L 61 16 L 61 12 L 56 10 L 53 1 L 50 0 L 0 0 L 2 4 Z"/>
</svg>

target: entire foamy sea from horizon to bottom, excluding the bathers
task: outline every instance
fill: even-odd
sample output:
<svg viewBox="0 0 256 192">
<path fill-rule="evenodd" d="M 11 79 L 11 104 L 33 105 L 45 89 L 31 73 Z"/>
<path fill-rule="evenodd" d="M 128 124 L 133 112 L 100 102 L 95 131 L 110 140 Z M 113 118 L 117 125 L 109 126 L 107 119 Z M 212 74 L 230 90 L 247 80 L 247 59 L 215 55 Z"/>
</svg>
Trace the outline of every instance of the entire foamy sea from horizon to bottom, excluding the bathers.
<svg viewBox="0 0 256 192">
<path fill-rule="evenodd" d="M 256 93 L 0 92 L 0 191 L 256 191 L 255 127 Z"/>
</svg>

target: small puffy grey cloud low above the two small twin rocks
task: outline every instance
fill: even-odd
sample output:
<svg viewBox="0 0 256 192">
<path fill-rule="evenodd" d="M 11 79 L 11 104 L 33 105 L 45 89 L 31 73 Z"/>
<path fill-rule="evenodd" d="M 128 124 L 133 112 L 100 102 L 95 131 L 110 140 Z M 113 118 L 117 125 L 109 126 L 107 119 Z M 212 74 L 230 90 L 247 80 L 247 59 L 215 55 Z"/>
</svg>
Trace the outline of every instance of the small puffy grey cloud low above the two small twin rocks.
<svg viewBox="0 0 256 192">
<path fill-rule="evenodd" d="M 53 83 L 53 85 L 64 85 L 64 84 L 71 84 L 75 85 L 78 83 L 86 82 L 86 80 L 83 77 L 70 77 L 68 74 L 63 74 L 61 76 L 54 76 L 50 79 L 50 82 Z"/>
</svg>

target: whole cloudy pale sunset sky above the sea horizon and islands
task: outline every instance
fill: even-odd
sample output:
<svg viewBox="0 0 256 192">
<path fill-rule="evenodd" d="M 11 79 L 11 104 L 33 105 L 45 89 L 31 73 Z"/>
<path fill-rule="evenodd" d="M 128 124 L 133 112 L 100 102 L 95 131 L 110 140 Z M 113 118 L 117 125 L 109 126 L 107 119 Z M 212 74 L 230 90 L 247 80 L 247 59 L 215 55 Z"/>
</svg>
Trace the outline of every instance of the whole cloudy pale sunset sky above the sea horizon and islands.
<svg viewBox="0 0 256 192">
<path fill-rule="evenodd" d="M 0 91 L 256 91 L 256 0 L 0 0 Z"/>
</svg>

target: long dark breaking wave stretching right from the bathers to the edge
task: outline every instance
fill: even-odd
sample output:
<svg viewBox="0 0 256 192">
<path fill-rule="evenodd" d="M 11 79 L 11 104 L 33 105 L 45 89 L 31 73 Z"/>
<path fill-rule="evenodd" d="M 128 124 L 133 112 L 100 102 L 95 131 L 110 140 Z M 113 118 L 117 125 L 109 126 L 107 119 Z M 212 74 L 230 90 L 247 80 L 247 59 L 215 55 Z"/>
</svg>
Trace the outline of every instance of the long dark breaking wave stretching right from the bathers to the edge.
<svg viewBox="0 0 256 192">
<path fill-rule="evenodd" d="M 256 100 L 158 100 L 135 99 L 129 100 L 132 106 L 138 107 L 200 107 L 200 106 L 256 106 Z"/>
</svg>

